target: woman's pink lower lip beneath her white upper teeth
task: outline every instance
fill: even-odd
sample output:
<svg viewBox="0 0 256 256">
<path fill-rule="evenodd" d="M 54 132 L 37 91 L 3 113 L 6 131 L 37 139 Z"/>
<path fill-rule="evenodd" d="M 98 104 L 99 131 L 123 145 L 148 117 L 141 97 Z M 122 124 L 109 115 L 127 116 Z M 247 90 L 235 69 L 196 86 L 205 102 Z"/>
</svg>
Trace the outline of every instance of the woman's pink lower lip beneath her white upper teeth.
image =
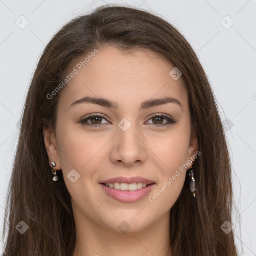
<svg viewBox="0 0 256 256">
<path fill-rule="evenodd" d="M 102 182 L 102 183 L 104 183 L 104 182 Z M 111 182 L 109 182 L 109 183 L 111 183 Z M 114 189 L 114 188 L 107 187 L 103 184 L 100 184 L 100 186 L 104 189 L 104 191 L 109 196 L 111 196 L 112 198 L 114 198 L 118 201 L 121 201 L 121 202 L 135 202 L 135 201 L 138 201 L 142 197 L 144 197 L 146 194 L 148 194 L 155 185 L 156 184 L 151 184 L 151 185 L 148 185 L 144 188 L 137 189 L 136 191 L 122 191 L 122 190 L 117 190 L 117 189 Z"/>
</svg>

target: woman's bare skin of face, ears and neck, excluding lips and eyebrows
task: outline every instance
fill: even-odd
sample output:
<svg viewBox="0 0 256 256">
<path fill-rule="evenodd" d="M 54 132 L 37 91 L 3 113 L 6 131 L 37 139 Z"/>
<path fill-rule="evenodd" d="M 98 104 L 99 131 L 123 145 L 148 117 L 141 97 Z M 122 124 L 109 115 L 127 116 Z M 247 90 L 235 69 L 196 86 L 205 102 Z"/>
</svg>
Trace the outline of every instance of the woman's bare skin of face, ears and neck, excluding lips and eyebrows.
<svg viewBox="0 0 256 256">
<path fill-rule="evenodd" d="M 61 91 L 56 134 L 47 127 L 43 134 L 49 161 L 62 170 L 72 198 L 77 237 L 72 256 L 171 255 L 169 212 L 184 185 L 186 169 L 154 202 L 148 197 L 182 164 L 189 163 L 189 169 L 189 159 L 198 150 L 197 137 L 190 134 L 188 93 L 182 77 L 174 80 L 169 75 L 173 67 L 148 50 L 127 55 L 108 46 L 99 49 Z M 91 103 L 70 107 L 84 96 L 116 101 L 119 108 Z M 167 103 L 139 111 L 142 101 L 165 96 L 178 99 L 182 108 Z M 105 119 L 89 119 L 94 126 L 80 123 L 93 113 Z M 177 122 L 159 126 L 168 121 L 151 116 L 161 113 Z M 118 126 L 123 118 L 131 123 L 127 131 Z M 74 183 L 67 178 L 72 169 L 80 175 Z M 99 185 L 117 176 L 141 176 L 156 185 L 139 201 L 124 203 Z M 123 221 L 130 226 L 126 233 L 118 228 Z"/>
</svg>

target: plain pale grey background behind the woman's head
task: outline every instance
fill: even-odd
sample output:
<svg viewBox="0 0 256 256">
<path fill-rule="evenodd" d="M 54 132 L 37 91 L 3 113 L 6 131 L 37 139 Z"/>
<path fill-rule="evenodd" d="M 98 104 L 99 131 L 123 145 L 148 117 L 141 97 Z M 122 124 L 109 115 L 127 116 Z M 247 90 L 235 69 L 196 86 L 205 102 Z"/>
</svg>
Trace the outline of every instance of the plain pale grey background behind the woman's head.
<svg viewBox="0 0 256 256">
<path fill-rule="evenodd" d="M 38 58 L 64 23 L 103 3 L 0 0 L 0 232 L 20 113 Z M 238 209 L 233 212 L 235 239 L 241 255 L 256 255 L 256 0 L 106 0 L 105 3 L 127 3 L 161 15 L 185 36 L 197 53 L 226 127 Z M 22 25 L 29 22 L 23 29 L 20 19 Z M 0 240 L 0 252 L 1 247 Z"/>
</svg>

